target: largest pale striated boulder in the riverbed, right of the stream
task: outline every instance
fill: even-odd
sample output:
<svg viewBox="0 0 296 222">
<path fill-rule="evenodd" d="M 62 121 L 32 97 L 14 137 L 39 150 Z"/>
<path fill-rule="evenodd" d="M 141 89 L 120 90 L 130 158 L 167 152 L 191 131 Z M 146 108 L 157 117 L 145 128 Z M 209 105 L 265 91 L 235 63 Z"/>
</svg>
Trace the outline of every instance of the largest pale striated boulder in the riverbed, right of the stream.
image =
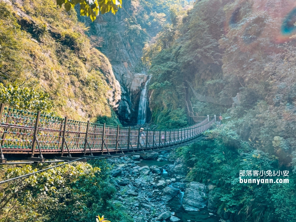
<svg viewBox="0 0 296 222">
<path fill-rule="evenodd" d="M 205 184 L 191 182 L 187 185 L 183 197 L 183 207 L 186 211 L 198 211 L 206 206 Z"/>
</svg>

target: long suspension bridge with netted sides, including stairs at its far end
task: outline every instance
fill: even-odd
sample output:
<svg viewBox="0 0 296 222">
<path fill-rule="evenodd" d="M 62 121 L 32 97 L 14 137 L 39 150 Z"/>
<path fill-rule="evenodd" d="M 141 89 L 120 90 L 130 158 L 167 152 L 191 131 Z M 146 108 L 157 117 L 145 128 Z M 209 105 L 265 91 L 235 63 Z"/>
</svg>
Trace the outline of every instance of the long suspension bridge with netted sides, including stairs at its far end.
<svg viewBox="0 0 296 222">
<path fill-rule="evenodd" d="M 0 104 L 0 164 L 20 163 L 7 160 L 87 161 L 183 147 L 203 139 L 203 132 L 216 122 L 216 115 L 198 116 L 193 111 L 188 87 L 185 87 L 185 107 L 191 126 L 151 130 L 70 120 Z"/>
</svg>

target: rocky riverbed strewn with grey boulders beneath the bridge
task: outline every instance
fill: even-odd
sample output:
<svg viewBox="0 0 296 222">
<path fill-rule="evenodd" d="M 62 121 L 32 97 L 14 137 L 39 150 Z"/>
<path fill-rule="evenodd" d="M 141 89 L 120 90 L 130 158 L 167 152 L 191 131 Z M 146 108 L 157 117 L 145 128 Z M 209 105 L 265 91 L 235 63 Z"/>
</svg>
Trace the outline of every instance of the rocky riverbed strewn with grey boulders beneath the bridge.
<svg viewBox="0 0 296 222">
<path fill-rule="evenodd" d="M 135 222 L 226 221 L 207 210 L 207 187 L 185 179 L 187 170 L 181 159 L 162 152 L 108 161 L 114 165 L 115 201 Z"/>
</svg>

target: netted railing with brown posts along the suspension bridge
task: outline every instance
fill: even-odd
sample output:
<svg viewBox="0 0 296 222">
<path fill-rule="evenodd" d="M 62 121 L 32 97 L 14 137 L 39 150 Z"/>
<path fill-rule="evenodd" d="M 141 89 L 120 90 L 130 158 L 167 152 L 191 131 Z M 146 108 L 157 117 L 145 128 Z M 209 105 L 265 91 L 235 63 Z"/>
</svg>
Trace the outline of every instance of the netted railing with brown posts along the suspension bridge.
<svg viewBox="0 0 296 222">
<path fill-rule="evenodd" d="M 192 126 L 150 130 L 69 120 L 0 106 L 0 145 L 3 153 L 64 154 L 133 152 L 165 148 L 199 136 L 215 119 L 203 117 Z M 37 151 L 36 151 L 37 150 Z"/>
</svg>

